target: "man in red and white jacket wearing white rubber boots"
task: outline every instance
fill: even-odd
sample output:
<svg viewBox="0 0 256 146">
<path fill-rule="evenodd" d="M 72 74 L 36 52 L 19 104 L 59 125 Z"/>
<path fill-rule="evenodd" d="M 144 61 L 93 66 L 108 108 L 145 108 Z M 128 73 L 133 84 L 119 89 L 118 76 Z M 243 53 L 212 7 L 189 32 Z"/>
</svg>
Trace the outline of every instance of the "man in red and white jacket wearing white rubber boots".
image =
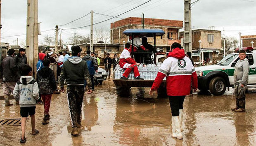
<svg viewBox="0 0 256 146">
<path fill-rule="evenodd" d="M 190 85 L 197 90 L 197 74 L 190 58 L 185 56 L 179 43 L 173 43 L 172 52 L 161 65 L 156 79 L 149 91 L 150 95 L 159 88 L 166 76 L 166 91 L 169 97 L 172 113 L 172 137 L 183 139 L 181 131 L 183 118 L 183 102 L 186 95 L 190 94 Z"/>
</svg>

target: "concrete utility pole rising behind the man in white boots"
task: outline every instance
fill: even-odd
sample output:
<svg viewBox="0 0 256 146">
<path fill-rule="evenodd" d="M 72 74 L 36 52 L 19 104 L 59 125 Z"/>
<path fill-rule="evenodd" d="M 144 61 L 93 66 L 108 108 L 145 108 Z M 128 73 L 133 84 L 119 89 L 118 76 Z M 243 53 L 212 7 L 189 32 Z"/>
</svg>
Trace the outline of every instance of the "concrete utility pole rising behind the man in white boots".
<svg viewBox="0 0 256 146">
<path fill-rule="evenodd" d="M 192 52 L 192 31 L 191 31 L 191 0 L 184 0 L 184 49 L 185 52 Z"/>
</svg>

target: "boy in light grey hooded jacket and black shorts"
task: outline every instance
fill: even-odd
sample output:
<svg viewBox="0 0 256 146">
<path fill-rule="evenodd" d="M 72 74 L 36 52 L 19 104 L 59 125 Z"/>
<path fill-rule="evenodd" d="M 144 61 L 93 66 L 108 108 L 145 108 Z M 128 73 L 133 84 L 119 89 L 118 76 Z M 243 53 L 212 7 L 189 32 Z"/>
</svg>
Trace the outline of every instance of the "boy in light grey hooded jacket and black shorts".
<svg viewBox="0 0 256 146">
<path fill-rule="evenodd" d="M 21 139 L 20 143 L 26 142 L 25 137 L 25 126 L 28 114 L 31 117 L 31 127 L 32 127 L 32 135 L 36 135 L 39 133 L 38 130 L 35 129 L 35 113 L 36 113 L 36 100 L 39 99 L 38 93 L 38 84 L 36 80 L 33 79 L 32 76 L 32 68 L 29 65 L 24 65 L 22 68 L 22 75 L 19 81 L 16 83 L 13 96 L 16 100 L 19 101 L 20 105 L 20 114 L 21 114 Z"/>
</svg>

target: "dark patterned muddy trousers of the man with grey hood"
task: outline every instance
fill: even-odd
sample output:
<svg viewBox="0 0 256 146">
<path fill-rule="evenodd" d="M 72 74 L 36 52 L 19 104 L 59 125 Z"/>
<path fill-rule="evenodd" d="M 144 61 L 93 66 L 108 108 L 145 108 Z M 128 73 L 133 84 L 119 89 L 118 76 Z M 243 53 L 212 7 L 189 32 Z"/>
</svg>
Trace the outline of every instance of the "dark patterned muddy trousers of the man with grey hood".
<svg viewBox="0 0 256 146">
<path fill-rule="evenodd" d="M 84 86 L 69 85 L 66 89 L 69 102 L 69 112 L 71 116 L 72 127 L 77 127 L 81 123 L 81 111 L 83 103 Z"/>
</svg>

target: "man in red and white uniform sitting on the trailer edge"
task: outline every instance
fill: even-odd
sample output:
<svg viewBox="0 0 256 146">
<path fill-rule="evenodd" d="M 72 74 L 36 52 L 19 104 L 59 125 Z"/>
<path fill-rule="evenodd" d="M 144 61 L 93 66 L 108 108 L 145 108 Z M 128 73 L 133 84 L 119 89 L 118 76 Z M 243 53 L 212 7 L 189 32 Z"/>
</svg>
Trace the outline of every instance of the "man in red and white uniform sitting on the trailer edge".
<svg viewBox="0 0 256 146">
<path fill-rule="evenodd" d="M 128 48 L 130 48 L 130 44 L 126 43 L 125 49 L 123 49 L 123 52 L 120 55 L 119 65 L 125 69 L 121 79 L 128 79 L 128 75 L 133 71 L 136 80 L 143 80 L 143 78 L 140 78 L 140 73 L 137 67 L 140 63 L 136 63 L 136 61 L 131 58 Z"/>
</svg>

